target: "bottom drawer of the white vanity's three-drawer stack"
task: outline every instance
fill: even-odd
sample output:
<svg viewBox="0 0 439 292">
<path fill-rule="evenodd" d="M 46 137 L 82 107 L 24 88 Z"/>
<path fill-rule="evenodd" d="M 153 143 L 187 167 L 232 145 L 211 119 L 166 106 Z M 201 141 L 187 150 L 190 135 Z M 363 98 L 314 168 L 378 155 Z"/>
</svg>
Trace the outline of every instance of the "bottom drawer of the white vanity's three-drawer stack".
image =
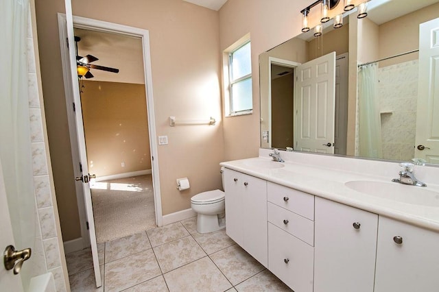
<svg viewBox="0 0 439 292">
<path fill-rule="evenodd" d="M 313 291 L 311 245 L 268 223 L 268 269 L 294 291 Z"/>
</svg>

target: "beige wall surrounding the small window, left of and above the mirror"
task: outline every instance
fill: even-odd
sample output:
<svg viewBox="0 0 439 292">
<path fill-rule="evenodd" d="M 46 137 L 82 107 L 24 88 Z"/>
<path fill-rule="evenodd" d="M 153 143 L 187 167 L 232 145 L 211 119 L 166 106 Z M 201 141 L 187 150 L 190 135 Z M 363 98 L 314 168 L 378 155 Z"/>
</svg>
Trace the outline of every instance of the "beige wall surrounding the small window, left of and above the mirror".
<svg viewBox="0 0 439 292">
<path fill-rule="evenodd" d="M 224 119 L 226 160 L 258 155 L 259 54 L 300 33 L 300 10 L 306 5 L 309 1 L 228 0 L 219 10 L 221 51 L 248 33 L 252 41 L 253 114 Z"/>
</svg>

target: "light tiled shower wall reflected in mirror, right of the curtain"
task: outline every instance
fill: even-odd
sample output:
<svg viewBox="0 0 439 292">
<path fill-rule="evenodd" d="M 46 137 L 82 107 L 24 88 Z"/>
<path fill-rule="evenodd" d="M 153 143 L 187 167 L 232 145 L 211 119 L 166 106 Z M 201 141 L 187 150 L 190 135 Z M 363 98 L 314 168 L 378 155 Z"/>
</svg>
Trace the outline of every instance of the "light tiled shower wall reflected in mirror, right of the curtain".
<svg viewBox="0 0 439 292">
<path fill-rule="evenodd" d="M 383 158 L 410 161 L 414 158 L 418 60 L 380 68 Z"/>
</svg>

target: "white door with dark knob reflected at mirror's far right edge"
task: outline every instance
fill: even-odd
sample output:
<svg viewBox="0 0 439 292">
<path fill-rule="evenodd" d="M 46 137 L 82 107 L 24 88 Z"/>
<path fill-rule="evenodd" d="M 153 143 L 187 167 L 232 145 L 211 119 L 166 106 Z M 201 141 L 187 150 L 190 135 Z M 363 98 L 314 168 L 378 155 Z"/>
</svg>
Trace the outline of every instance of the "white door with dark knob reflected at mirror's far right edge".
<svg viewBox="0 0 439 292">
<path fill-rule="evenodd" d="M 415 158 L 439 164 L 439 19 L 419 25 Z"/>
</svg>

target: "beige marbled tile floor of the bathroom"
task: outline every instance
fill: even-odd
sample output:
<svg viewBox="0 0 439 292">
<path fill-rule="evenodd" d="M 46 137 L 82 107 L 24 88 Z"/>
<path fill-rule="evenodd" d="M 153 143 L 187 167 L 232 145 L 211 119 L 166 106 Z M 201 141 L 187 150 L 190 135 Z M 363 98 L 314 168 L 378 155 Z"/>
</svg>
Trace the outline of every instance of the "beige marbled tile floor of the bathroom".
<svg viewBox="0 0 439 292">
<path fill-rule="evenodd" d="M 100 243 L 98 251 L 99 289 L 90 249 L 67 254 L 71 291 L 291 291 L 225 230 L 198 233 L 196 217 Z"/>
</svg>

